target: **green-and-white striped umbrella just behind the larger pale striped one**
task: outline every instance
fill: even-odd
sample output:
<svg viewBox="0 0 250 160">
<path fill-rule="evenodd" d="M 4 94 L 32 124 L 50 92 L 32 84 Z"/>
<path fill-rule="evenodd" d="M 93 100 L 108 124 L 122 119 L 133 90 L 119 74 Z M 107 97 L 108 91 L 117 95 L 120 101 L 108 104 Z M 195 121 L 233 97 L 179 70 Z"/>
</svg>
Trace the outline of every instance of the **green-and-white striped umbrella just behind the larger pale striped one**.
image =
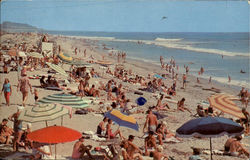
<svg viewBox="0 0 250 160">
<path fill-rule="evenodd" d="M 90 100 L 83 100 L 80 97 L 64 93 L 49 95 L 47 97 L 43 97 L 38 101 L 38 103 L 60 103 L 72 108 L 89 107 L 90 102 Z"/>
</svg>

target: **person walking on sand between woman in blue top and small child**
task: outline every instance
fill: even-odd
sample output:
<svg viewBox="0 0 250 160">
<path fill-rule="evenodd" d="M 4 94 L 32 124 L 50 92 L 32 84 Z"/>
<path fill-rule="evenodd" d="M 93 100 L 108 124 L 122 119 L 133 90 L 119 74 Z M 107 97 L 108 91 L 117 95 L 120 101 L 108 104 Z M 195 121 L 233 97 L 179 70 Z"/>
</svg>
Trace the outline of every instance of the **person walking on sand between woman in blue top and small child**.
<svg viewBox="0 0 250 160">
<path fill-rule="evenodd" d="M 25 107 L 25 103 L 27 101 L 28 94 L 29 94 L 29 88 L 30 88 L 30 92 L 32 93 L 32 87 L 31 87 L 30 81 L 29 81 L 26 73 L 23 74 L 23 77 L 18 82 L 17 92 L 18 92 L 19 88 L 20 88 L 20 91 L 23 95 L 22 105 Z"/>
</svg>

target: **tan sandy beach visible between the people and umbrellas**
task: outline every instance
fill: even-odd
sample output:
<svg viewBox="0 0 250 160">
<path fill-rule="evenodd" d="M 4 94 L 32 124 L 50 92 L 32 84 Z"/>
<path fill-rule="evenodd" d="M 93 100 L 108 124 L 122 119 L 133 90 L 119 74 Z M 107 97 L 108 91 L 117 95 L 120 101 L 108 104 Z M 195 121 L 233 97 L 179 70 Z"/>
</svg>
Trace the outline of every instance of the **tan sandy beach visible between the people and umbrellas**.
<svg viewBox="0 0 250 160">
<path fill-rule="evenodd" d="M 37 46 L 37 43 L 41 40 L 41 36 L 32 33 L 30 35 L 28 34 L 4 34 L 1 35 L 1 46 L 8 45 L 7 40 L 10 40 L 9 45 L 11 47 L 14 46 L 14 44 L 20 44 L 22 42 L 26 42 L 29 47 L 32 47 L 32 45 Z M 83 39 L 81 37 L 65 37 L 65 36 L 58 36 L 58 35 L 47 35 L 47 38 L 49 41 L 56 42 L 56 45 L 61 46 L 61 50 L 63 53 L 70 54 L 70 56 L 74 58 L 81 59 L 82 61 L 89 60 L 86 57 L 90 57 L 91 55 L 94 57 L 93 61 L 97 60 L 104 60 L 110 61 L 113 65 L 110 66 L 111 70 L 114 68 L 114 66 L 117 64 L 117 57 L 116 56 L 109 56 L 108 52 L 106 50 L 103 50 L 101 48 L 101 45 L 98 44 L 98 41 L 96 40 L 90 40 L 90 39 Z M 74 48 L 77 48 L 80 50 L 80 52 L 75 55 Z M 86 49 L 87 56 L 84 57 L 83 51 Z M 2 52 L 2 51 L 1 51 Z M 159 57 L 160 58 L 160 57 Z M 2 63 L 2 62 L 1 62 Z M 154 74 L 166 74 L 166 71 L 161 69 L 160 62 L 159 65 L 147 63 L 144 61 L 139 60 L 132 60 L 132 59 L 126 59 L 125 63 L 122 63 L 124 69 L 131 70 L 134 75 L 141 75 L 143 77 L 147 77 L 148 74 L 153 76 Z M 112 67 L 113 66 L 113 67 Z M 96 85 L 96 87 L 100 87 L 100 82 L 106 84 L 108 80 L 114 79 L 117 84 L 122 84 L 123 88 L 125 90 L 126 98 L 130 99 L 130 101 L 136 105 L 136 99 L 140 96 L 143 96 L 145 99 L 147 99 L 147 103 L 143 106 L 138 106 L 143 111 L 147 111 L 149 107 L 156 105 L 157 98 L 160 95 L 159 91 L 156 91 L 155 93 L 150 93 L 146 91 L 141 91 L 139 88 L 144 88 L 143 86 L 137 85 L 137 84 L 131 84 L 127 82 L 123 82 L 120 79 L 113 77 L 109 74 L 106 74 L 103 70 L 103 67 L 101 65 L 92 63 L 91 67 L 95 69 L 95 71 L 100 75 L 98 78 L 91 78 L 90 79 L 90 86 L 92 84 Z M 66 71 L 70 71 L 70 65 L 64 64 L 62 68 Z M 33 75 L 46 75 L 49 68 L 41 68 L 40 66 L 38 69 L 34 71 L 27 71 L 28 76 Z M 4 95 L 1 95 L 1 101 L 0 101 L 0 120 L 4 118 L 8 118 L 11 114 L 15 113 L 17 110 L 17 106 L 20 106 L 22 104 L 22 95 L 20 92 L 17 92 L 17 84 L 18 84 L 18 77 L 17 77 L 17 71 L 10 71 L 8 74 L 1 73 L 0 75 L 0 86 L 2 87 L 4 79 L 8 78 L 10 80 L 10 84 L 12 86 L 12 95 L 10 97 L 10 106 L 6 106 Z M 57 80 L 64 80 L 65 77 L 63 77 L 60 74 L 55 74 L 55 77 Z M 187 87 L 186 89 L 182 89 L 182 75 L 179 74 L 178 80 L 177 80 L 177 89 L 176 89 L 176 95 L 175 96 L 169 96 L 167 93 L 164 93 L 165 96 L 169 96 L 171 99 L 164 98 L 163 102 L 167 102 L 170 106 L 169 111 L 161 111 L 162 114 L 166 115 L 166 118 L 161 119 L 160 121 L 167 122 L 167 128 L 175 133 L 176 129 L 179 128 L 182 124 L 184 124 L 186 121 L 194 119 L 193 116 L 196 113 L 196 106 L 201 103 L 202 101 L 207 101 L 207 99 L 214 95 L 216 92 L 211 90 L 211 88 L 215 88 L 219 90 L 221 93 L 227 93 L 230 95 L 234 95 L 237 97 L 239 94 L 238 89 L 235 89 L 234 87 L 231 87 L 230 84 L 222 84 L 218 82 L 212 81 L 212 83 L 208 83 L 207 79 L 200 79 L 200 83 L 196 82 L 196 78 L 191 75 L 187 75 Z M 170 87 L 173 83 L 173 79 L 170 76 L 167 76 L 166 79 L 163 80 L 163 82 Z M 32 88 L 38 89 L 38 95 L 39 99 L 42 97 L 56 94 L 56 93 L 67 93 L 67 90 L 64 91 L 51 91 L 46 90 L 44 88 L 39 88 L 40 83 L 39 79 L 30 79 L 30 83 L 32 85 Z M 77 90 L 79 83 L 78 82 L 72 82 L 70 84 L 67 84 L 67 88 L 71 88 L 74 90 Z M 210 90 L 208 90 L 210 89 Z M 135 91 L 142 92 L 143 95 L 134 94 Z M 89 108 L 92 108 L 94 110 L 98 110 L 100 108 L 99 102 L 104 103 L 104 108 L 110 106 L 112 103 L 111 101 L 107 101 L 107 93 L 104 90 L 100 91 L 100 97 L 87 97 L 87 99 L 90 99 L 92 103 L 89 104 Z M 185 106 L 191 110 L 192 114 L 188 112 L 181 112 L 177 111 L 177 104 L 173 102 L 179 101 L 181 98 L 185 98 Z M 170 102 L 171 101 L 171 102 Z M 35 104 L 34 95 L 29 93 L 27 105 L 26 107 L 33 107 Z M 242 105 L 240 102 L 236 102 L 236 104 L 241 108 Z M 248 108 L 249 109 L 249 108 Z M 90 112 L 86 115 L 78 115 L 74 114 L 76 109 L 73 109 L 73 115 L 72 118 L 70 118 L 68 115 L 65 115 L 63 117 L 63 126 L 75 129 L 79 132 L 86 132 L 86 131 L 93 131 L 96 132 L 96 128 L 99 122 L 102 121 L 103 115 L 96 114 L 94 112 Z M 143 125 L 146 120 L 146 114 L 145 113 L 138 113 L 138 114 L 132 114 L 131 116 L 135 117 L 137 120 L 137 123 L 139 124 L 139 131 L 135 131 L 129 128 L 120 127 L 120 130 L 124 137 L 128 137 L 130 134 L 135 136 L 134 143 L 139 146 L 144 146 L 144 139 L 141 138 L 143 136 Z M 236 117 L 233 117 L 229 114 L 224 113 L 222 115 L 226 118 L 233 118 L 234 120 Z M 23 126 L 26 126 L 26 122 L 23 123 Z M 49 126 L 52 125 L 60 125 L 61 119 L 58 118 L 53 121 L 48 122 Z M 11 121 L 8 122 L 9 127 L 13 127 L 13 123 Z M 40 128 L 44 128 L 45 123 L 44 122 L 37 122 L 32 123 L 32 130 L 37 130 Z M 118 128 L 118 125 L 113 125 L 113 130 Z M 224 143 L 228 139 L 227 136 L 222 136 L 218 138 L 212 138 L 212 145 L 214 150 L 223 150 Z M 250 149 L 250 139 L 249 137 L 245 137 L 241 141 L 248 150 Z M 71 157 L 72 154 L 72 148 L 75 141 L 69 142 L 69 143 L 63 143 L 63 144 L 57 144 L 57 154 L 66 158 Z M 91 144 L 92 146 L 96 147 L 99 146 L 99 142 L 86 139 L 84 142 L 85 144 Z M 163 152 L 166 153 L 168 156 L 174 157 L 176 160 L 185 160 L 188 159 L 189 156 L 192 155 L 192 149 L 191 147 L 197 147 L 197 148 L 204 148 L 209 149 L 210 142 L 209 138 L 183 138 L 182 141 L 178 143 L 164 143 Z M 20 149 L 20 151 L 24 152 L 24 149 Z M 29 153 L 31 150 L 28 151 Z M 52 152 L 54 153 L 54 145 L 52 146 Z M 13 155 L 14 152 L 12 152 L 11 146 L 0 146 L 0 158 L 5 158 L 7 156 Z M 201 154 L 201 157 L 208 160 L 210 158 L 209 154 Z M 243 160 L 248 159 L 246 157 L 230 157 L 230 156 L 223 156 L 223 155 L 213 155 L 214 160 Z"/>
</svg>

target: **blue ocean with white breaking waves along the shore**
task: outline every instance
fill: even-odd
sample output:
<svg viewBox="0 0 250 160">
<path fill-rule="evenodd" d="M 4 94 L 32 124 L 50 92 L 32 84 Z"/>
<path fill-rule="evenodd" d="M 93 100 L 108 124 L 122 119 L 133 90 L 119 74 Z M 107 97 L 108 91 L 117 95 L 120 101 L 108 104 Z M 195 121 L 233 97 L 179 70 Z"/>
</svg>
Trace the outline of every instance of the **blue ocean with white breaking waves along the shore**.
<svg viewBox="0 0 250 160">
<path fill-rule="evenodd" d="M 212 77 L 221 83 L 249 86 L 249 33 L 142 33 L 142 32 L 52 32 L 70 36 L 83 36 L 99 41 L 100 47 L 124 51 L 127 57 L 160 65 L 163 56 L 168 63 L 171 58 L 184 72 L 198 76 L 201 67 L 205 72 L 201 78 Z M 141 42 L 138 44 L 138 41 Z M 241 73 L 240 71 L 246 73 Z"/>
</svg>

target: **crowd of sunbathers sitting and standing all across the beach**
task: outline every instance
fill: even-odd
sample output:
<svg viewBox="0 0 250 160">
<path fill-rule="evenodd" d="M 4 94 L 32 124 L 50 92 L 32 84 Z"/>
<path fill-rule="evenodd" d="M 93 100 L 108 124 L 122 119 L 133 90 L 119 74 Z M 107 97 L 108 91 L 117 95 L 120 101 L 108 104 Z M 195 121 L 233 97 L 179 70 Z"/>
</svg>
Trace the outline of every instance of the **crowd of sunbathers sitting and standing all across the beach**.
<svg viewBox="0 0 250 160">
<path fill-rule="evenodd" d="M 47 42 L 47 37 L 43 36 L 43 42 Z M 27 51 L 25 45 L 17 46 L 22 51 Z M 34 49 L 36 47 L 33 47 Z M 60 47 L 59 47 L 60 48 Z M 73 47 L 75 54 L 79 54 L 80 50 L 77 47 Z M 61 50 L 61 48 L 59 49 Z M 112 56 L 112 55 L 110 55 Z M 86 57 L 86 50 L 84 50 L 84 57 Z M 125 62 L 126 53 L 119 52 L 117 54 L 117 61 Z M 30 83 L 29 78 L 27 77 L 27 71 L 29 68 L 37 69 L 39 67 L 45 68 L 46 62 L 52 62 L 53 64 L 60 64 L 60 60 L 56 55 L 52 57 L 44 55 L 44 58 L 41 61 L 34 60 L 32 58 L 27 58 L 24 60 L 23 58 L 19 59 L 11 59 L 10 61 L 5 61 L 4 66 L 10 66 L 12 62 L 16 64 L 16 70 L 20 70 L 20 77 L 18 79 L 17 84 L 17 92 L 21 92 L 22 94 L 22 106 L 26 106 L 26 101 L 29 95 L 29 92 L 34 94 L 35 102 L 39 99 L 39 91 L 37 89 L 33 89 Z M 107 107 L 107 111 L 112 109 L 118 109 L 122 112 L 126 112 L 126 114 L 133 113 L 144 113 L 143 109 L 137 107 L 136 104 L 132 104 L 131 100 L 128 98 L 127 93 L 128 89 L 124 86 L 124 83 L 129 83 L 133 85 L 138 85 L 141 87 L 140 91 L 147 91 L 150 93 L 158 93 L 160 92 L 160 96 L 157 98 L 157 102 L 155 106 L 150 107 L 147 110 L 147 115 L 145 119 L 145 123 L 143 126 L 143 133 L 145 136 L 144 145 L 142 147 L 137 146 L 133 141 L 135 139 L 134 135 L 129 135 L 128 137 L 124 137 L 121 130 L 118 128 L 117 130 L 112 130 L 112 119 L 107 117 L 103 117 L 103 120 L 97 124 L 96 134 L 99 137 L 104 137 L 106 140 L 116 139 L 119 136 L 119 146 L 121 147 L 121 156 L 125 160 L 139 159 L 142 160 L 143 156 L 151 156 L 154 160 L 161 159 L 169 159 L 170 156 L 163 153 L 164 141 L 168 138 L 175 138 L 179 141 L 182 139 L 178 138 L 174 133 L 170 132 L 169 128 L 167 128 L 166 121 L 159 121 L 154 112 L 168 112 L 172 110 L 172 106 L 169 105 L 168 102 L 163 102 L 166 97 L 173 98 L 177 95 L 177 82 L 178 82 L 178 69 L 179 66 L 176 65 L 176 62 L 173 58 L 171 58 L 170 64 L 165 64 L 164 59 L 160 57 L 160 63 L 162 69 L 166 70 L 168 74 L 166 75 L 150 75 L 147 77 L 142 75 L 134 74 L 132 69 L 124 69 L 124 66 L 116 66 L 113 70 L 110 67 L 106 68 L 106 74 L 112 76 L 107 83 L 99 81 L 99 86 L 97 87 L 95 84 L 91 84 L 90 81 L 92 78 L 100 78 L 101 74 L 95 71 L 95 68 L 91 68 L 90 70 L 87 67 L 70 67 L 69 77 L 70 82 L 78 83 L 78 91 L 74 94 L 80 97 L 102 97 L 103 95 L 107 95 L 105 97 L 105 101 L 111 102 L 109 108 Z M 189 73 L 189 67 L 184 66 L 186 73 L 182 76 L 182 89 L 187 88 L 187 75 Z M 204 73 L 204 68 L 202 67 L 200 70 L 200 74 Z M 160 77 L 160 78 L 159 78 Z M 167 86 L 166 82 L 164 83 L 164 79 L 171 78 L 172 85 Z M 197 79 L 198 81 L 198 79 Z M 211 81 L 211 80 L 210 80 Z M 120 83 L 119 83 L 120 82 Z M 46 89 L 48 87 L 57 87 L 63 88 L 59 81 L 54 76 L 41 76 L 40 78 L 40 87 L 42 89 Z M 4 97 L 6 100 L 6 105 L 9 106 L 10 97 L 13 92 L 13 87 L 8 78 L 4 80 L 2 92 L 4 93 Z M 105 94 L 101 94 L 101 93 Z M 139 92 L 137 92 L 139 93 Z M 140 94 L 140 93 L 139 93 Z M 167 95 L 167 96 L 166 96 Z M 242 113 L 245 118 L 240 119 L 239 123 L 246 128 L 246 133 L 249 133 L 249 113 L 246 111 L 248 106 L 248 90 L 242 88 L 239 94 L 241 98 L 241 102 L 244 105 L 242 109 Z M 33 149 L 33 155 L 30 156 L 30 159 L 40 159 L 40 158 L 48 158 L 52 155 L 47 144 L 42 144 L 38 142 L 32 142 L 27 139 L 27 134 L 31 132 L 31 125 L 28 124 L 27 127 L 22 125 L 22 121 L 18 119 L 23 107 L 19 107 L 17 112 L 10 115 L 8 119 L 3 119 L 0 125 L 0 143 L 4 144 L 13 144 L 13 150 L 18 151 L 19 147 L 24 147 L 27 149 Z M 192 115 L 192 111 L 189 107 L 185 105 L 185 98 L 181 98 L 176 104 L 176 110 L 180 112 L 189 112 Z M 221 116 L 223 113 L 218 113 L 214 111 L 212 107 L 203 108 L 201 105 L 197 106 L 196 109 L 197 115 L 200 117 L 206 116 Z M 12 127 L 7 126 L 8 121 L 13 122 Z M 13 137 L 13 138 L 12 138 Z M 225 152 L 231 156 L 241 156 L 242 154 L 249 156 L 249 152 L 244 148 L 244 146 L 240 143 L 241 138 L 230 138 L 225 143 Z M 72 158 L 79 159 L 83 158 L 85 154 L 88 155 L 89 158 L 94 159 L 91 153 L 93 149 L 90 145 L 84 145 L 85 137 L 81 137 L 73 146 Z M 198 157 L 199 151 L 194 150 L 194 155 L 192 155 L 189 159 L 193 160 L 195 157 Z M 108 159 L 108 158 L 107 158 Z M 197 158 L 196 158 L 197 159 Z"/>
</svg>

